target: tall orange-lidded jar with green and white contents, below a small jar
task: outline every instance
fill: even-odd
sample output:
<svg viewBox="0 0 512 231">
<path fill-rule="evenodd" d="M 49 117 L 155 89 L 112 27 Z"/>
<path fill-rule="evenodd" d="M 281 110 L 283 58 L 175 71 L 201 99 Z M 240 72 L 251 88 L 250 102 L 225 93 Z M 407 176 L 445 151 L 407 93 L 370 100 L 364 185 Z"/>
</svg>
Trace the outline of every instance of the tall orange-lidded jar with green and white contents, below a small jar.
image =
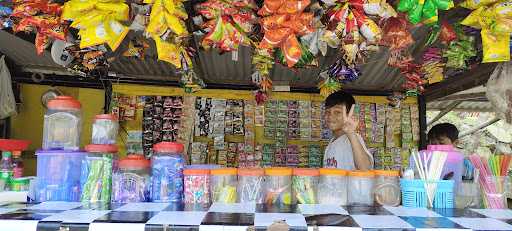
<svg viewBox="0 0 512 231">
<path fill-rule="evenodd" d="M 111 144 L 90 144 L 82 163 L 80 185 L 82 202 L 110 202 L 112 173 L 117 166 L 118 147 Z"/>
</svg>

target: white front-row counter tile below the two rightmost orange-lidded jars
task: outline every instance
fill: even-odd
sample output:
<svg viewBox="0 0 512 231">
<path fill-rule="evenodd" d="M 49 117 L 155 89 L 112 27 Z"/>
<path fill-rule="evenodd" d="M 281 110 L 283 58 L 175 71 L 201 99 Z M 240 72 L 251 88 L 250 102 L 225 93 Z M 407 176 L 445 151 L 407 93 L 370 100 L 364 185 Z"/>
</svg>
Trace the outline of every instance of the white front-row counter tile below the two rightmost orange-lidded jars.
<svg viewBox="0 0 512 231">
<path fill-rule="evenodd" d="M 409 223 L 400 219 L 397 216 L 383 215 L 383 216 L 371 216 L 371 215 L 352 215 L 352 218 L 362 228 L 369 229 L 412 229 Z"/>
</svg>

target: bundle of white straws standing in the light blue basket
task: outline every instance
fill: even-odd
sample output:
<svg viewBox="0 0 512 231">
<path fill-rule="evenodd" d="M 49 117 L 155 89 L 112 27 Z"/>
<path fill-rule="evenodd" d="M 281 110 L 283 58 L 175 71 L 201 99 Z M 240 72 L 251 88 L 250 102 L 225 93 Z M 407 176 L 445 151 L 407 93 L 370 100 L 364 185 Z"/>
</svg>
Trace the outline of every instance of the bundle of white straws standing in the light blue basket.
<svg viewBox="0 0 512 231">
<path fill-rule="evenodd" d="M 420 179 L 423 180 L 425 184 L 428 205 L 432 208 L 434 205 L 437 183 L 441 178 L 441 173 L 448 154 L 446 152 L 439 151 L 420 154 L 414 150 L 412 157 L 416 164 L 416 169 L 418 170 Z"/>
</svg>

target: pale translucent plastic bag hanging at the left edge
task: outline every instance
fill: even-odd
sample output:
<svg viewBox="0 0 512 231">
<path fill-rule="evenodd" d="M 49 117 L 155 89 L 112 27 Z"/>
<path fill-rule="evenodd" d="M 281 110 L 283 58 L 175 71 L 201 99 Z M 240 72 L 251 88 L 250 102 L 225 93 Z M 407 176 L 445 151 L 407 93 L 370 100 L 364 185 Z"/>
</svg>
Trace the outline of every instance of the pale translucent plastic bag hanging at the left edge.
<svg viewBox="0 0 512 231">
<path fill-rule="evenodd" d="M 0 58 L 0 119 L 16 115 L 16 100 L 12 92 L 11 73 L 5 64 L 5 56 Z"/>
</svg>

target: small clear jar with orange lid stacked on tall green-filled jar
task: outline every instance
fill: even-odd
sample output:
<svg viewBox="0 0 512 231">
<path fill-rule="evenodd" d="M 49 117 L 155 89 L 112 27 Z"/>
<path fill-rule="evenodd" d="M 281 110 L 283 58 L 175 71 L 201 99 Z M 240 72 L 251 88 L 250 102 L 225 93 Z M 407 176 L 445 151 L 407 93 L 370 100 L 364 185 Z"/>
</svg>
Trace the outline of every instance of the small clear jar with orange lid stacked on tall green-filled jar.
<svg viewBox="0 0 512 231">
<path fill-rule="evenodd" d="M 115 144 L 119 122 L 113 114 L 102 114 L 94 117 L 92 124 L 92 143 L 93 144 Z"/>
</svg>

